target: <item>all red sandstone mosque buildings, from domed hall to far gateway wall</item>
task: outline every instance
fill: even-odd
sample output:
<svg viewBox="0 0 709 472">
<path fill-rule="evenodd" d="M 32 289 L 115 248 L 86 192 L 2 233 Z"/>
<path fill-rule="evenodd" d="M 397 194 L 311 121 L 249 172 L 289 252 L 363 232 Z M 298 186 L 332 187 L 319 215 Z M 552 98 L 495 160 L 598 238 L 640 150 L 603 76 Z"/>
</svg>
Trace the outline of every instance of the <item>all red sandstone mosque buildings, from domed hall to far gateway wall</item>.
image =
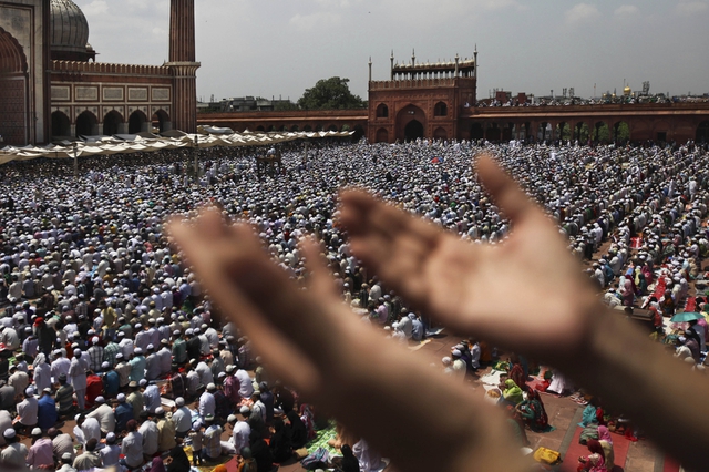
<svg viewBox="0 0 709 472">
<path fill-rule="evenodd" d="M 373 80 L 369 107 L 343 111 L 201 113 L 194 0 L 171 0 L 169 60 L 96 62 L 89 24 L 72 0 L 0 1 L 0 146 L 86 135 L 181 130 L 354 131 L 369 142 L 442 140 L 709 141 L 709 103 L 476 106 L 477 51 L 443 62 L 395 62 Z"/>
</svg>

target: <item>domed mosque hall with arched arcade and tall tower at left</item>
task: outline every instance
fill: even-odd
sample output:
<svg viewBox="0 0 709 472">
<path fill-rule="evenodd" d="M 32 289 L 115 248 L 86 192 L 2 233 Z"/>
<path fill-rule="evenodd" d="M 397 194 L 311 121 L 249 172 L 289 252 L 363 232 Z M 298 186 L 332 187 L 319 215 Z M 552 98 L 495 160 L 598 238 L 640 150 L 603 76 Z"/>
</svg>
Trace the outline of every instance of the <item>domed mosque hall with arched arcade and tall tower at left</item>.
<svg viewBox="0 0 709 472">
<path fill-rule="evenodd" d="M 0 2 L 2 145 L 196 131 L 194 0 L 171 0 L 169 61 L 96 62 L 72 0 Z"/>
</svg>

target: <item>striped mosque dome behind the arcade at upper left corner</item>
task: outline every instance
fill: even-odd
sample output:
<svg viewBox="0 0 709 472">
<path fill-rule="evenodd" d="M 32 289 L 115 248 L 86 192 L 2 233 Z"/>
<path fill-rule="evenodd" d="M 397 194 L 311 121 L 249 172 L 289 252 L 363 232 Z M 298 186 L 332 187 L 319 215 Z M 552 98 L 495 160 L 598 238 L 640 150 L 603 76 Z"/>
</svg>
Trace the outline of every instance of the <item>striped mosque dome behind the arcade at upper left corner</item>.
<svg viewBox="0 0 709 472">
<path fill-rule="evenodd" d="M 51 0 L 51 50 L 54 60 L 95 59 L 89 47 L 89 22 L 72 0 Z"/>
</svg>

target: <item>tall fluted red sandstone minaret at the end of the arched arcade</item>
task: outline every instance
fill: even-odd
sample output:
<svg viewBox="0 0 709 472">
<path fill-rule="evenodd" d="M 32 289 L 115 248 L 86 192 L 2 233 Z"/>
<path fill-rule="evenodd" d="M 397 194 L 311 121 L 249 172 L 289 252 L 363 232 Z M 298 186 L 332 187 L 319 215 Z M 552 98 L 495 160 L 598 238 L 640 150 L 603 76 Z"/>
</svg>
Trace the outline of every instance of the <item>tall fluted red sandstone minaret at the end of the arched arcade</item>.
<svg viewBox="0 0 709 472">
<path fill-rule="evenodd" d="M 169 62 L 173 71 L 172 127 L 197 132 L 197 69 L 195 62 L 195 0 L 171 0 Z"/>
</svg>

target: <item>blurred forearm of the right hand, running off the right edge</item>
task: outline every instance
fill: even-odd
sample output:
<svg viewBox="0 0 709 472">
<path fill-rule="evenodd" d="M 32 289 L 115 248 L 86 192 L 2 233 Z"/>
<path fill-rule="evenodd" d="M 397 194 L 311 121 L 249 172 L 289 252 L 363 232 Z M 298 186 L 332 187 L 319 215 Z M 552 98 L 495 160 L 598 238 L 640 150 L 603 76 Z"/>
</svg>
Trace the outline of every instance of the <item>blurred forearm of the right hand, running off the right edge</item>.
<svg viewBox="0 0 709 472">
<path fill-rule="evenodd" d="M 559 367 L 613 411 L 627 414 L 671 456 L 688 466 L 703 466 L 709 379 L 621 315 L 598 310 L 589 315 L 594 321 L 583 352 Z"/>
</svg>

